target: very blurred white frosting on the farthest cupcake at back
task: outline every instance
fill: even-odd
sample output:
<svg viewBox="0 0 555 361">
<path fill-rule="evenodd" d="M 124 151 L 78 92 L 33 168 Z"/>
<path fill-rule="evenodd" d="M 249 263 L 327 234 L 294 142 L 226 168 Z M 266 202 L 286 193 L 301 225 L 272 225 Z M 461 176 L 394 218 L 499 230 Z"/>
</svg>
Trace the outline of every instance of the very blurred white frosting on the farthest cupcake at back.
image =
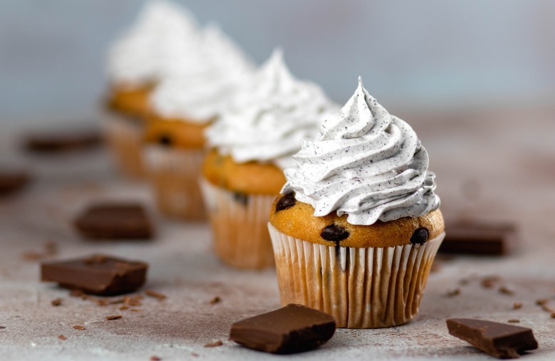
<svg viewBox="0 0 555 361">
<path fill-rule="evenodd" d="M 157 81 L 184 51 L 193 51 L 199 26 L 186 9 L 166 0 L 149 1 L 137 23 L 110 49 L 108 75 L 135 86 Z"/>
</svg>

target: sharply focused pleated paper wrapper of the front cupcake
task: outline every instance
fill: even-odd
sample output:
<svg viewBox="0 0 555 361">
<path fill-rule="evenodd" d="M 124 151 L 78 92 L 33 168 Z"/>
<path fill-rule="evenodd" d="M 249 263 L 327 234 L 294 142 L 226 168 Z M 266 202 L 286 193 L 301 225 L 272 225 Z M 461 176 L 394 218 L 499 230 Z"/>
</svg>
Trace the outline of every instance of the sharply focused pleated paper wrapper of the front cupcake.
<svg viewBox="0 0 555 361">
<path fill-rule="evenodd" d="M 271 224 L 268 228 L 282 305 L 322 310 L 339 328 L 384 328 L 411 320 L 445 236 L 425 244 L 347 248 L 295 239 Z"/>
</svg>

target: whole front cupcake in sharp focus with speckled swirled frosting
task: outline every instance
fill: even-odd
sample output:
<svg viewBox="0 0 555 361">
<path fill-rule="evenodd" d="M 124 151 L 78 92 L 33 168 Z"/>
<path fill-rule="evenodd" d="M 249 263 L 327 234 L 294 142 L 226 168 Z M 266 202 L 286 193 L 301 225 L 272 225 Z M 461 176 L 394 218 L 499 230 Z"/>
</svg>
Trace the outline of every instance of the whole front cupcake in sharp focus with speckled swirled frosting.
<svg viewBox="0 0 555 361">
<path fill-rule="evenodd" d="M 281 303 L 322 310 L 340 328 L 407 323 L 445 235 L 416 133 L 359 78 L 294 159 L 268 224 Z"/>
</svg>

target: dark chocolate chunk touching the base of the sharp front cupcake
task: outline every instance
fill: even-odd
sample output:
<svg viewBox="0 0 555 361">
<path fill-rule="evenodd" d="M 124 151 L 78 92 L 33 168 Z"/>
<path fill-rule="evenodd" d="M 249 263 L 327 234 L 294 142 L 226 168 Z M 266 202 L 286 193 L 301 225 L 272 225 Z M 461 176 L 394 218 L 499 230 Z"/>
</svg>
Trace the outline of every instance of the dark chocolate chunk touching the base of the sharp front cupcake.
<svg viewBox="0 0 555 361">
<path fill-rule="evenodd" d="M 229 339 L 254 350 L 285 354 L 312 350 L 334 332 L 332 315 L 290 304 L 233 323 Z"/>
</svg>

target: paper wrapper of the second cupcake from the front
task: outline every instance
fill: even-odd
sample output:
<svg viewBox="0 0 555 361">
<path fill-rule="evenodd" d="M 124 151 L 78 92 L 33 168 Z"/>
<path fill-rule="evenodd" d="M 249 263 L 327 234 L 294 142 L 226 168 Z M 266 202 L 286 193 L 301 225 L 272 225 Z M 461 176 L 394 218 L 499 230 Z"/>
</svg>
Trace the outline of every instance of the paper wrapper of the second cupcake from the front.
<svg viewBox="0 0 555 361">
<path fill-rule="evenodd" d="M 201 179 L 201 189 L 218 257 L 237 268 L 273 266 L 268 220 L 277 194 L 238 194 L 206 179 Z"/>
</svg>

